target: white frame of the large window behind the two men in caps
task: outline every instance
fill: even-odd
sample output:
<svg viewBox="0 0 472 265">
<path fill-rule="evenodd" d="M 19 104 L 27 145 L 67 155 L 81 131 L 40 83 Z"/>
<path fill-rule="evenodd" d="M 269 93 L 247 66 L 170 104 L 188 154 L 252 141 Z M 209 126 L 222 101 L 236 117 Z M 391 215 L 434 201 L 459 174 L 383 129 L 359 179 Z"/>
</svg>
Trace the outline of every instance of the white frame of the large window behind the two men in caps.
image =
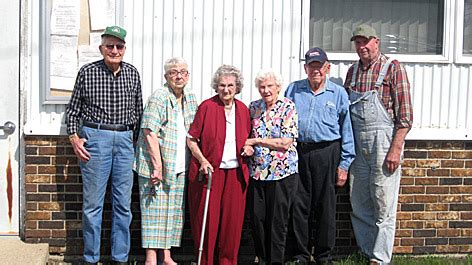
<svg viewBox="0 0 472 265">
<path fill-rule="evenodd" d="M 301 29 L 301 51 L 300 58 L 304 60 L 305 51 L 309 47 L 310 41 L 310 4 L 311 1 L 302 1 L 302 29 Z M 456 0 L 463 3 L 464 0 Z M 454 49 L 454 10 L 455 1 L 444 1 L 444 21 L 443 21 L 443 51 L 442 54 L 437 55 L 417 55 L 417 54 L 386 54 L 401 62 L 418 62 L 418 63 L 452 63 L 453 62 L 453 49 Z M 463 19 L 463 13 L 462 13 Z M 448 26 L 450 25 L 450 26 Z M 380 44 L 382 45 L 382 43 Z M 462 41 L 461 41 L 462 45 Z M 462 49 L 461 49 L 462 52 Z M 359 57 L 355 52 L 328 52 L 330 61 L 357 61 Z M 472 56 L 470 58 L 472 62 Z"/>
</svg>

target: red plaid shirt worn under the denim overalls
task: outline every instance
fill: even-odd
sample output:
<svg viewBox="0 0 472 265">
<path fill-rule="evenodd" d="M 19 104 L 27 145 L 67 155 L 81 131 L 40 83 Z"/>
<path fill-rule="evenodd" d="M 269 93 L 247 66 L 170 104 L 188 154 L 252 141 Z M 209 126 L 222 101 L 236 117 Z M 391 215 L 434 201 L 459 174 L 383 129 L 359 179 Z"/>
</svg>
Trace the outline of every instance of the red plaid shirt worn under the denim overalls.
<svg viewBox="0 0 472 265">
<path fill-rule="evenodd" d="M 347 72 L 344 87 L 357 92 L 366 92 L 374 89 L 375 82 L 379 76 L 382 66 L 388 57 L 381 54 L 377 60 L 367 67 L 359 61 L 356 85 L 350 87 L 353 66 Z M 393 119 L 396 128 L 411 128 L 413 124 L 413 106 L 411 104 L 410 83 L 405 69 L 397 60 L 393 60 L 389 67 L 382 88 L 378 90 L 380 101 Z"/>
</svg>

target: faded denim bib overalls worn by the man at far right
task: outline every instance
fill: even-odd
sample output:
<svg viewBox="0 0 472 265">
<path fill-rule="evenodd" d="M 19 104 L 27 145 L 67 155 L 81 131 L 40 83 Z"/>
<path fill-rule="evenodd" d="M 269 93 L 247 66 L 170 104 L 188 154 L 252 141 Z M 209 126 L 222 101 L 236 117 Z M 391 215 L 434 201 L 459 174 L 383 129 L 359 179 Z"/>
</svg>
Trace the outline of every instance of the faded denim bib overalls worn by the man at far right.
<svg viewBox="0 0 472 265">
<path fill-rule="evenodd" d="M 356 85 L 356 63 L 349 91 L 356 144 L 349 179 L 352 226 L 361 251 L 380 264 L 388 264 L 392 258 L 401 174 L 400 167 L 390 173 L 384 165 L 395 128 L 377 91 L 391 61 L 382 67 L 375 89 L 364 93 L 352 89 Z"/>
</svg>

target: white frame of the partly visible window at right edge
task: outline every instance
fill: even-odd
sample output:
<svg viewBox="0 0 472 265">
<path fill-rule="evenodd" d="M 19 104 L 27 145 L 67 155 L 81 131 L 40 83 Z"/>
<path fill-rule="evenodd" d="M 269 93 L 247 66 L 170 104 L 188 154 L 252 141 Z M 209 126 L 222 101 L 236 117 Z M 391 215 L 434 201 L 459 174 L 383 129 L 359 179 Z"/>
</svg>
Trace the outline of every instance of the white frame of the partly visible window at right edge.
<svg viewBox="0 0 472 265">
<path fill-rule="evenodd" d="M 455 53 L 454 61 L 459 64 L 472 64 L 472 54 L 464 54 L 464 15 L 465 0 L 456 0 L 455 12 Z"/>
</svg>

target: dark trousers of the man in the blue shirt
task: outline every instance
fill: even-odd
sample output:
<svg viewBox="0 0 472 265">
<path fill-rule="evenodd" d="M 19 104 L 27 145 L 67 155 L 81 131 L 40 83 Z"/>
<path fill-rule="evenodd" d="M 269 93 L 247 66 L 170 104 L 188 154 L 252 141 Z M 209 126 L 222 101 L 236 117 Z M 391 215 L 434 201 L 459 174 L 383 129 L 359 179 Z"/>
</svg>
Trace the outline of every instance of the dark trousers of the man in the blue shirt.
<svg viewBox="0 0 472 265">
<path fill-rule="evenodd" d="M 313 231 L 315 260 L 329 261 L 336 239 L 335 183 L 340 142 L 299 144 L 297 151 L 300 181 L 293 205 L 295 258 L 309 260 Z"/>
</svg>

